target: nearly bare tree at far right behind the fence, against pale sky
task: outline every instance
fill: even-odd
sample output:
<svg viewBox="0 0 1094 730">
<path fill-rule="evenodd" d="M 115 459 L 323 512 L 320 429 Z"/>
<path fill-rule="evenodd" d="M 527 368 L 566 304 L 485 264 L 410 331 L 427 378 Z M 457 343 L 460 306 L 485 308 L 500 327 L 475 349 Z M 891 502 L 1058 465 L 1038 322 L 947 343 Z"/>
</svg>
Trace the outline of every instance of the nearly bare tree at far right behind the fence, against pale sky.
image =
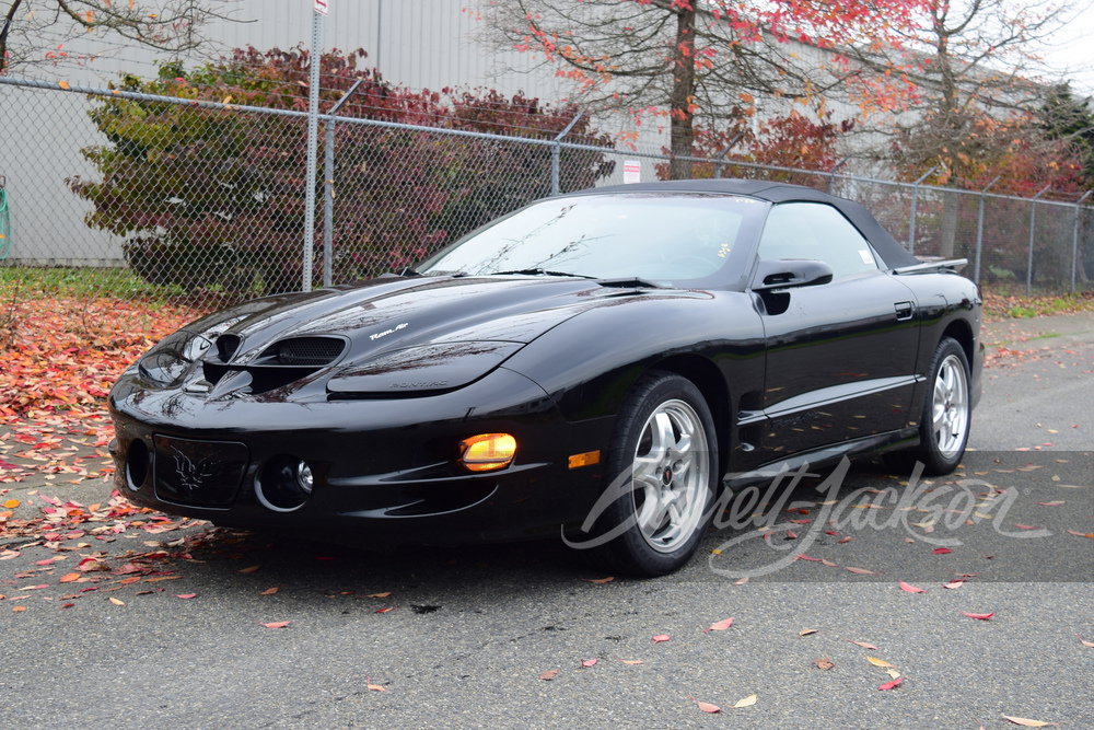
<svg viewBox="0 0 1094 730">
<path fill-rule="evenodd" d="M 1051 73 L 1039 51 L 1071 19 L 1091 5 L 1039 0 L 929 0 L 913 26 L 899 28 L 894 48 L 849 55 L 865 78 L 899 73 L 907 81 L 907 112 L 875 119 L 866 128 L 885 135 L 878 154 L 915 176 L 935 169 L 940 183 L 961 182 L 975 167 L 975 151 L 988 154 L 980 132 L 985 116 L 1032 117 L 1049 99 Z M 1031 131 L 1033 128 L 1031 127 Z M 1026 140 L 1026 143 L 1031 143 Z M 941 254 L 952 256 L 958 195 L 943 204 Z"/>
</svg>

